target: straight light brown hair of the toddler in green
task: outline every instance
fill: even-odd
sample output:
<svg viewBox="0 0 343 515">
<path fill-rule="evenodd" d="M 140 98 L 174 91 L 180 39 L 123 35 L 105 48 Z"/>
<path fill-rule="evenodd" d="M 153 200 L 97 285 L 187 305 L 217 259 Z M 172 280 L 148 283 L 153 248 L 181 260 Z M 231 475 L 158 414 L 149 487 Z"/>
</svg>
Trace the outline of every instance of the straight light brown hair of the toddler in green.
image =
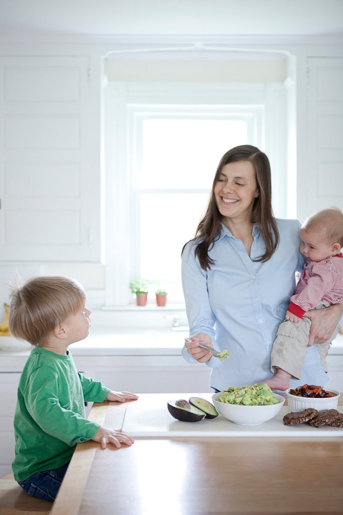
<svg viewBox="0 0 343 515">
<path fill-rule="evenodd" d="M 30 279 L 10 294 L 10 332 L 41 347 L 56 325 L 83 307 L 85 299 L 83 287 L 74 279 Z"/>
</svg>

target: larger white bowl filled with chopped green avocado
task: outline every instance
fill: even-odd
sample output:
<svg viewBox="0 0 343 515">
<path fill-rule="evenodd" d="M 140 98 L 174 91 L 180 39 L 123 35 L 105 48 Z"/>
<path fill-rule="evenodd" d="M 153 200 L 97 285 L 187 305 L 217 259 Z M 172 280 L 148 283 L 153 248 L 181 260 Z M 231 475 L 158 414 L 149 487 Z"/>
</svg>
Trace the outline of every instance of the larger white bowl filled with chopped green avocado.
<svg viewBox="0 0 343 515">
<path fill-rule="evenodd" d="M 212 401 L 216 410 L 227 420 L 234 422 L 238 425 L 260 425 L 274 418 L 280 411 L 285 402 L 284 397 L 275 394 L 275 398 L 279 401 L 278 404 L 270 404 L 267 406 L 243 406 L 239 404 L 227 404 L 220 402 L 220 393 L 212 395 Z"/>
</svg>

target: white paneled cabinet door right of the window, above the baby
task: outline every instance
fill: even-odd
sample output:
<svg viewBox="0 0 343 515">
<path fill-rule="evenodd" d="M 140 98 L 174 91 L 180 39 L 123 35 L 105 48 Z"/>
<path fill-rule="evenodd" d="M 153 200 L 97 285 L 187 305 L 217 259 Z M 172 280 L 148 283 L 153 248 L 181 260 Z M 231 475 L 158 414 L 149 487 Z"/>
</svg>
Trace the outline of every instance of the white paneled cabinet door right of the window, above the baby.
<svg viewBox="0 0 343 515">
<path fill-rule="evenodd" d="M 305 216 L 343 209 L 343 58 L 309 58 Z"/>
</svg>

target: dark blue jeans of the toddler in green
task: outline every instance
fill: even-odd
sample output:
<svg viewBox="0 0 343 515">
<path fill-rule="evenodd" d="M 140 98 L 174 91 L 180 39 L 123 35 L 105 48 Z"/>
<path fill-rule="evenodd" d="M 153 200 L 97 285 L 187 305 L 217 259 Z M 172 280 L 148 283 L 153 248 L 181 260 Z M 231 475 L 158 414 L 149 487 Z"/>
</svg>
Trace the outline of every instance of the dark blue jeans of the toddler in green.
<svg viewBox="0 0 343 515">
<path fill-rule="evenodd" d="M 69 461 L 58 469 L 36 472 L 25 479 L 25 481 L 18 481 L 18 485 L 29 495 L 32 495 L 32 497 L 38 497 L 38 499 L 53 502 L 55 501 L 68 465 Z"/>
</svg>

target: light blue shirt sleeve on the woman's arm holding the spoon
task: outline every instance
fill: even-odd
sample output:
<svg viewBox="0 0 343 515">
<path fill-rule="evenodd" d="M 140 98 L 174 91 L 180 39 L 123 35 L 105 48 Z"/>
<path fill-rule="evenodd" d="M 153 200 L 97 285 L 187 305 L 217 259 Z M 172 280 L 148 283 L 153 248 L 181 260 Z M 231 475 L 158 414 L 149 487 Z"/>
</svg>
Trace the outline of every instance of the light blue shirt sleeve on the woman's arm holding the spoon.
<svg viewBox="0 0 343 515">
<path fill-rule="evenodd" d="M 190 337 L 198 333 L 208 334 L 213 347 L 215 347 L 215 316 L 211 310 L 208 297 L 207 272 L 200 267 L 198 260 L 195 258 L 194 249 L 194 243 L 189 242 L 182 255 L 182 285 L 186 302 L 189 334 Z M 196 359 L 192 358 L 187 352 L 186 347 L 182 349 L 182 355 L 189 363 L 197 363 Z M 211 357 L 206 362 L 206 365 L 217 367 L 221 365 L 221 361 Z"/>
</svg>

